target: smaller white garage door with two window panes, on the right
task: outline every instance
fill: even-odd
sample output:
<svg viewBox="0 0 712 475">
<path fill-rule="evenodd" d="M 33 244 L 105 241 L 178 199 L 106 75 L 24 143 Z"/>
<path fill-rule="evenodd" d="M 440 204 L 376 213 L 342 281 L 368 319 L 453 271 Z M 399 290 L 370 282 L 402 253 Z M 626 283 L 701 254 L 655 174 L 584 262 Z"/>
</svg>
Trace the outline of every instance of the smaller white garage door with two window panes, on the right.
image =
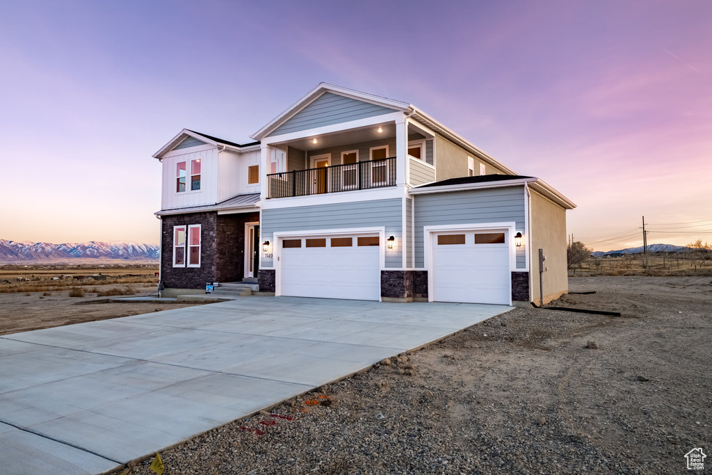
<svg viewBox="0 0 712 475">
<path fill-rule="evenodd" d="M 509 305 L 507 235 L 506 230 L 433 234 L 433 300 Z"/>
</svg>

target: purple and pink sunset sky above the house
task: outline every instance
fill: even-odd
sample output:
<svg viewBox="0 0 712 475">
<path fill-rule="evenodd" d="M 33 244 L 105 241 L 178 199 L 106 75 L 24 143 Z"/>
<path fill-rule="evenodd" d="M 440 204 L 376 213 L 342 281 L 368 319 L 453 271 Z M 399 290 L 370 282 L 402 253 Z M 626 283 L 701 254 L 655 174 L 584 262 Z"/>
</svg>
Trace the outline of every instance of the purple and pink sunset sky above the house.
<svg viewBox="0 0 712 475">
<path fill-rule="evenodd" d="M 0 239 L 157 243 L 183 128 L 321 81 L 412 103 L 577 204 L 592 249 L 712 242 L 712 2 L 4 1 Z"/>
</svg>

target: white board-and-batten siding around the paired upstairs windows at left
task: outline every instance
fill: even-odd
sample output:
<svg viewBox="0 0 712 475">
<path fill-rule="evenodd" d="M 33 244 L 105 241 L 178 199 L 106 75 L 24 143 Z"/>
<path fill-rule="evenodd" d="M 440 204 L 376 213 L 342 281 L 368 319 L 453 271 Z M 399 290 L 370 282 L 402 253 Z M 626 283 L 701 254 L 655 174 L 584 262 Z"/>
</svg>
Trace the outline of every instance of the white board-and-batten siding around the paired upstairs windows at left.
<svg viewBox="0 0 712 475">
<path fill-rule="evenodd" d="M 192 138 L 192 137 L 191 137 Z M 180 145 L 185 143 L 183 141 Z M 190 190 L 190 163 L 200 160 L 200 189 Z M 185 192 L 177 192 L 177 164 L 186 162 L 187 183 Z M 174 148 L 162 157 L 161 209 L 194 207 L 218 201 L 218 150 L 200 142 L 197 146 Z"/>
</svg>

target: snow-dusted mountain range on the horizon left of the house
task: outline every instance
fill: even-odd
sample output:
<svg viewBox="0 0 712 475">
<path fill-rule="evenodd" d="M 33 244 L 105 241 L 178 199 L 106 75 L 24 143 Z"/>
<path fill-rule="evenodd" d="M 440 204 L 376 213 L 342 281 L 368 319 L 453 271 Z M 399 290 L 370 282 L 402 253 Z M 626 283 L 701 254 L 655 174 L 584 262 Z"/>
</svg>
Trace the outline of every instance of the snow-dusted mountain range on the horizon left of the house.
<svg viewBox="0 0 712 475">
<path fill-rule="evenodd" d="M 158 261 L 158 244 L 88 241 L 51 244 L 0 239 L 0 263 L 58 263 L 102 260 Z"/>
</svg>

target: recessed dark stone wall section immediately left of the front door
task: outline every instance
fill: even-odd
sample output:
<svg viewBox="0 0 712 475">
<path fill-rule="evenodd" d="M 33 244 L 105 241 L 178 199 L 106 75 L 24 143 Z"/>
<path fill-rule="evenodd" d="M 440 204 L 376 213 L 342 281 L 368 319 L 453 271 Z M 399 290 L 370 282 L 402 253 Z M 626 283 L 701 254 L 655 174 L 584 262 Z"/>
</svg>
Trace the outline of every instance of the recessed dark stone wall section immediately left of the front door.
<svg viewBox="0 0 712 475">
<path fill-rule="evenodd" d="M 242 281 L 245 269 L 245 223 L 257 222 L 260 214 L 219 214 L 216 222 L 216 278 Z"/>
</svg>

